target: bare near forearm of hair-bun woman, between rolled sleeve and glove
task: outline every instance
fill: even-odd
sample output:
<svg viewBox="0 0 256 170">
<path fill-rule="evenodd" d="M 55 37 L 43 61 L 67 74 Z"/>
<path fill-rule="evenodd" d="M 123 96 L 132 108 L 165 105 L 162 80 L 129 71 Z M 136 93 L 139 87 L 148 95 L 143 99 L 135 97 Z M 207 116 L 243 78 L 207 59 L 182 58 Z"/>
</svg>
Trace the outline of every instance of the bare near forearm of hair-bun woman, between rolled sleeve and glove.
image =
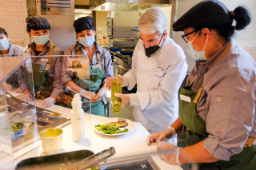
<svg viewBox="0 0 256 170">
<path fill-rule="evenodd" d="M 206 148 L 204 148 L 203 143 L 204 141 L 202 140 L 198 144 L 194 144 L 186 148 L 181 148 L 179 150 L 180 162 L 183 164 L 186 164 L 186 163 L 211 163 L 211 162 L 218 161 L 218 159 L 216 159 L 213 156 L 213 154 L 211 154 L 206 150 Z"/>
</svg>

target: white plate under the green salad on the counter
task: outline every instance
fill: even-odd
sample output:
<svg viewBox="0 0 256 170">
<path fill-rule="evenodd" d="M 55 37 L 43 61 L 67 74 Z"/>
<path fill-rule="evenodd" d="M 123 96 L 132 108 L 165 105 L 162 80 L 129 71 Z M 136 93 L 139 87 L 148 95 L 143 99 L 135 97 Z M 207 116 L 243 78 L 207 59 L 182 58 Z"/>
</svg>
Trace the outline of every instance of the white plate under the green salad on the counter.
<svg viewBox="0 0 256 170">
<path fill-rule="evenodd" d="M 95 124 L 95 125 L 103 125 L 103 124 L 116 122 L 116 121 L 126 121 L 128 123 L 128 125 L 125 128 L 128 128 L 128 132 L 131 132 L 135 128 L 135 124 L 133 121 L 130 121 L 129 119 L 121 118 L 121 117 L 113 117 L 113 118 L 109 118 L 109 119 L 103 119 L 102 121 L 98 121 L 97 124 Z M 105 134 L 105 133 L 102 133 L 101 131 L 97 130 L 95 128 L 95 125 L 94 125 L 94 131 L 101 133 L 102 135 L 106 135 L 106 136 L 120 136 L 120 135 L 124 135 L 124 134 L 128 133 L 128 132 L 122 132 L 122 133 L 117 133 L 117 134 Z M 120 128 L 120 129 L 123 130 L 125 128 Z"/>
</svg>

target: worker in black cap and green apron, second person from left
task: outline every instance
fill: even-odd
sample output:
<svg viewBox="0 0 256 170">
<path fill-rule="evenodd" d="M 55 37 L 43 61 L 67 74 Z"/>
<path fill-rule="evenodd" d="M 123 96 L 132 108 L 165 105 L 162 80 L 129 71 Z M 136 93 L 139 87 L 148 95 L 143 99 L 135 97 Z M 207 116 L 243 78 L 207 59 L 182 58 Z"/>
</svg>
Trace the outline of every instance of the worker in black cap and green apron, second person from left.
<svg viewBox="0 0 256 170">
<path fill-rule="evenodd" d="M 30 73 L 26 67 L 19 69 L 18 83 L 24 93 L 23 101 L 30 102 L 34 98 L 31 95 L 40 93 L 42 99 L 42 108 L 48 108 L 56 103 L 56 97 L 62 95 L 61 72 L 62 57 L 53 57 L 63 55 L 64 51 L 50 41 L 50 24 L 46 18 L 29 17 L 26 18 L 26 32 L 30 34 L 31 42 L 23 49 L 23 53 L 30 53 L 32 57 L 33 80 L 31 81 Z"/>
</svg>

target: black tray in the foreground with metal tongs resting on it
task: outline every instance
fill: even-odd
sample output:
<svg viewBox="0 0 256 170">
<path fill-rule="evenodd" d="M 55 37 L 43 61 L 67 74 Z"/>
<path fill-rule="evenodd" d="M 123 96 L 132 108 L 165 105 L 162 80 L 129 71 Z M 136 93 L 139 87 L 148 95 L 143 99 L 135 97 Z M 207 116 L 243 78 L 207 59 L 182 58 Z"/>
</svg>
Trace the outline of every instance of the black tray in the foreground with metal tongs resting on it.
<svg viewBox="0 0 256 170">
<path fill-rule="evenodd" d="M 28 158 L 20 161 L 15 170 L 52 170 L 52 169 L 65 169 L 70 164 L 78 163 L 86 157 L 94 155 L 94 152 L 90 150 L 79 150 L 74 152 L 59 153 L 51 156 L 38 156 Z M 61 165 L 62 164 L 62 165 Z M 65 166 L 64 166 L 65 165 Z"/>
</svg>

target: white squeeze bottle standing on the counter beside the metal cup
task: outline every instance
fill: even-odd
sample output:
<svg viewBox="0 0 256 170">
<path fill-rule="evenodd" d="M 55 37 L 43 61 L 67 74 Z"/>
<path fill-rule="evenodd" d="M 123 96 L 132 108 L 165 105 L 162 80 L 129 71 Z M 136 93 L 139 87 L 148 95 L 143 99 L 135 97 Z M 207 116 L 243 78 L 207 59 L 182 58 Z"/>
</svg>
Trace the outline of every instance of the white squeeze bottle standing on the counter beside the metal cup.
<svg viewBox="0 0 256 170">
<path fill-rule="evenodd" d="M 71 105 L 72 137 L 74 142 L 78 142 L 85 139 L 85 117 L 81 97 L 78 93 L 74 95 Z"/>
</svg>

